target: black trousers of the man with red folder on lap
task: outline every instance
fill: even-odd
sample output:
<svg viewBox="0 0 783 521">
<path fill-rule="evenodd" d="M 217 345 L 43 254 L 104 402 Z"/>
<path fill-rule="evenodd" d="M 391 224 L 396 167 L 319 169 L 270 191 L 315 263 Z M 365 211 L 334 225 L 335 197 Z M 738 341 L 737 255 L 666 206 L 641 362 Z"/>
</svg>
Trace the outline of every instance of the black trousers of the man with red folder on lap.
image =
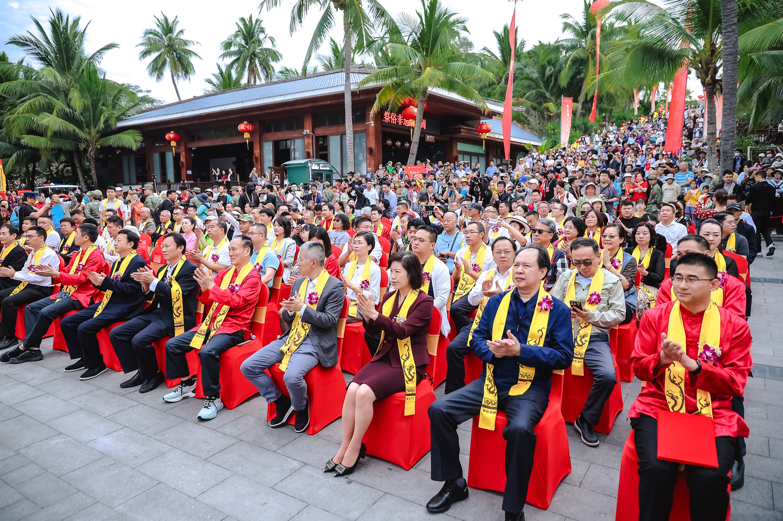
<svg viewBox="0 0 783 521">
<path fill-rule="evenodd" d="M 648 415 L 631 419 L 639 455 L 639 521 L 667 521 L 680 464 L 658 458 L 658 420 Z M 707 440 L 705 440 L 707 441 Z M 721 521 L 729 508 L 729 470 L 736 440 L 715 438 L 718 468 L 687 465 L 692 521 Z"/>
</svg>

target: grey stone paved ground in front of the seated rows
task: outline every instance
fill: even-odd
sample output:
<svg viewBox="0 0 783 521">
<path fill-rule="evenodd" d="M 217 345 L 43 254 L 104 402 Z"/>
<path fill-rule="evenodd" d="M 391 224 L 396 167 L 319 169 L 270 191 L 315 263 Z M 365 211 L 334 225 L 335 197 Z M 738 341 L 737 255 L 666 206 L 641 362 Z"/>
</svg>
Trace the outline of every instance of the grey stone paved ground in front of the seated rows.
<svg viewBox="0 0 783 521">
<path fill-rule="evenodd" d="M 783 519 L 783 250 L 753 264 L 753 358 L 745 393 L 750 425 L 745 487 L 731 494 L 733 519 Z M 760 282 L 761 279 L 765 282 Z M 254 397 L 211 422 L 201 401 L 167 404 L 162 390 L 122 390 L 106 372 L 80 382 L 66 354 L 44 344 L 45 360 L 0 365 L 0 519 L 502 519 L 500 494 L 471 489 L 437 517 L 424 504 L 439 488 L 429 455 L 405 472 L 367 458 L 350 479 L 321 472 L 341 438 L 338 420 L 315 437 L 270 429 Z M 627 406 L 638 381 L 623 383 Z M 442 393 L 442 386 L 438 395 Z M 470 423 L 460 426 L 467 469 Z M 614 519 L 622 444 L 620 415 L 601 445 L 589 448 L 568 426 L 572 473 L 548 511 L 527 519 Z"/>
</svg>

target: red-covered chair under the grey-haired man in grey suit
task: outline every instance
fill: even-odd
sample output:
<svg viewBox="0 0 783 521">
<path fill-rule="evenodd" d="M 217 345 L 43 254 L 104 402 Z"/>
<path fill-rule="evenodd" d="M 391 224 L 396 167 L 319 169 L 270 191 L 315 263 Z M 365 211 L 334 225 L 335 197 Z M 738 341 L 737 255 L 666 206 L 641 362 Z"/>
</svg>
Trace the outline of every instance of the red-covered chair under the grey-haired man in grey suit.
<svg viewBox="0 0 783 521">
<path fill-rule="evenodd" d="M 337 320 L 338 327 L 340 319 L 345 323 L 345 317 L 347 316 L 348 299 L 345 299 L 340 318 Z M 341 342 L 339 334 L 338 330 L 338 351 Z M 283 372 L 280 371 L 280 364 L 272 365 L 267 371 L 272 376 L 272 380 L 280 392 L 288 396 L 288 390 L 285 383 L 283 383 Z M 332 367 L 323 367 L 319 364 L 312 368 L 305 375 L 305 383 L 307 383 L 307 399 L 310 407 L 310 426 L 307 428 L 307 433 L 313 435 L 342 415 L 342 405 L 343 401 L 345 401 L 345 378 L 343 378 L 340 369 L 339 356 L 337 364 Z M 274 402 L 267 404 L 266 420 L 268 422 L 272 421 L 276 413 Z M 294 415 L 290 415 L 288 423 L 294 424 Z"/>
</svg>

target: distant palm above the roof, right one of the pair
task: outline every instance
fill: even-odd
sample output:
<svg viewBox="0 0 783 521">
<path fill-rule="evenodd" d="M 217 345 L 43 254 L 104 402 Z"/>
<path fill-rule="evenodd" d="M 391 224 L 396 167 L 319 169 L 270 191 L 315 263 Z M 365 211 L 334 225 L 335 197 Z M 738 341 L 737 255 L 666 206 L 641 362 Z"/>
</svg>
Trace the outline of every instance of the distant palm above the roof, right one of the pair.
<svg viewBox="0 0 783 521">
<path fill-rule="evenodd" d="M 261 19 L 253 19 L 253 15 L 240 17 L 236 22 L 236 31 L 223 41 L 221 58 L 229 58 L 229 67 L 242 76 L 247 70 L 247 84 L 258 83 L 259 78 L 269 81 L 275 76 L 273 63 L 283 59 L 283 55 L 275 50 L 275 38 L 266 34 Z M 272 45 L 266 47 L 265 45 Z"/>
</svg>

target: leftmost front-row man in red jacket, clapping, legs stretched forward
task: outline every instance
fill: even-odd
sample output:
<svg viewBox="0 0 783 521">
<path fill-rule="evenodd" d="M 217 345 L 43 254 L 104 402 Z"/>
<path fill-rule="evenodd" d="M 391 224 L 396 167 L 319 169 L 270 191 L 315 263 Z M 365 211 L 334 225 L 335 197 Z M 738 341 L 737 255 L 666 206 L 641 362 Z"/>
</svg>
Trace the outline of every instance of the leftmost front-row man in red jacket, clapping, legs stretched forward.
<svg viewBox="0 0 783 521">
<path fill-rule="evenodd" d="M 79 246 L 79 251 L 70 257 L 70 262 L 63 271 L 57 271 L 45 264 L 35 267 L 36 275 L 51 277 L 54 284 L 58 283 L 56 279 L 59 278 L 62 288 L 60 293 L 47 296 L 24 308 L 24 330 L 27 336 L 12 352 L 19 350 L 18 354 L 21 354 L 23 350 L 40 350 L 41 339 L 55 318 L 62 317 L 68 311 L 84 309 L 94 302 L 100 290 L 92 285 L 84 271 L 101 273 L 106 269 L 103 251 L 95 244 L 97 239 L 98 227 L 85 223 L 79 226 L 74 237 L 74 243 Z M 11 354 L 11 356 L 18 354 Z"/>
</svg>

